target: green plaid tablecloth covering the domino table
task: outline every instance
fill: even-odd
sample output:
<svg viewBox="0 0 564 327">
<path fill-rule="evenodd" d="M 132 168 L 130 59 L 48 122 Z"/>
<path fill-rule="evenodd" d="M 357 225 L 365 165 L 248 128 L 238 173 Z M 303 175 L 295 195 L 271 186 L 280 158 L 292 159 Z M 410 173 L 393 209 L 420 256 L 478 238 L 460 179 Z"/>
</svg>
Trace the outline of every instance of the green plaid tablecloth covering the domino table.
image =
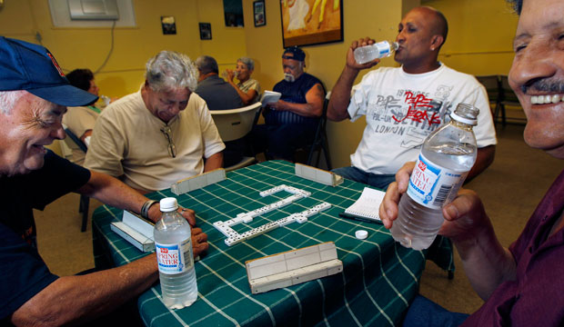
<svg viewBox="0 0 564 327">
<path fill-rule="evenodd" d="M 286 192 L 264 198 L 258 194 L 283 183 L 311 195 L 233 228 L 243 233 L 322 202 L 332 207 L 309 217 L 307 223 L 290 223 L 228 247 L 225 236 L 212 224 L 287 197 Z M 207 233 L 209 251 L 196 263 L 197 301 L 182 310 L 169 310 L 161 302 L 157 283 L 139 297 L 142 319 L 148 326 L 169 327 L 398 324 L 418 292 L 426 253 L 395 243 L 381 224 L 338 216 L 358 199 L 365 186 L 349 180 L 337 187 L 327 186 L 297 177 L 293 163 L 268 161 L 229 172 L 227 180 L 190 193 L 176 196 L 166 190 L 149 194 L 155 200 L 176 196 L 180 205 L 194 209 L 197 225 Z M 120 221 L 121 215 L 121 210 L 106 205 L 96 209 L 92 219 L 96 262 L 102 253 L 116 265 L 146 255 L 110 230 L 110 223 Z M 366 240 L 355 237 L 359 229 L 368 231 Z M 335 242 L 343 273 L 251 294 L 247 260 L 324 242 Z"/>
</svg>

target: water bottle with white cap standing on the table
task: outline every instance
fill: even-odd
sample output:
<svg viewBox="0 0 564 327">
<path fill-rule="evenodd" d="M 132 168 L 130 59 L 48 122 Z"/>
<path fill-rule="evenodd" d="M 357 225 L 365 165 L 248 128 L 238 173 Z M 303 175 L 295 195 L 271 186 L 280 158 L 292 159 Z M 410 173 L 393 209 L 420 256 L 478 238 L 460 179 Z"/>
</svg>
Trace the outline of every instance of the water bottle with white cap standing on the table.
<svg viewBox="0 0 564 327">
<path fill-rule="evenodd" d="M 176 210 L 173 197 L 160 201 L 162 216 L 155 224 L 155 249 L 163 302 L 171 309 L 191 305 L 197 298 L 196 271 L 190 224 Z"/>
</svg>

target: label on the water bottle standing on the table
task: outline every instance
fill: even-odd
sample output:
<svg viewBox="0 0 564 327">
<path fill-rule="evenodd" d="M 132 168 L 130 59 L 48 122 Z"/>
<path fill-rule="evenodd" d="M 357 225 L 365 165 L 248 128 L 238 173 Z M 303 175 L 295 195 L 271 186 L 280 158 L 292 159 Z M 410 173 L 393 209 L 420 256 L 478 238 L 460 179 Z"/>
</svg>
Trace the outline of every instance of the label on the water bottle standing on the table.
<svg viewBox="0 0 564 327">
<path fill-rule="evenodd" d="M 176 274 L 190 269 L 194 265 L 194 259 L 190 256 L 191 246 L 190 238 L 184 243 L 155 243 L 158 271 L 166 274 Z"/>
</svg>

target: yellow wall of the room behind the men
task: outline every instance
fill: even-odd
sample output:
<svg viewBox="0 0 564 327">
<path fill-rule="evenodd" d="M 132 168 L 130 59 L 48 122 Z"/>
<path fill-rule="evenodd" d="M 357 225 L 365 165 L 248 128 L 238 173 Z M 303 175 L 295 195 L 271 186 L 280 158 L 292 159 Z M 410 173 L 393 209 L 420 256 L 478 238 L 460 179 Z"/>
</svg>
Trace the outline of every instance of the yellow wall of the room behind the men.
<svg viewBox="0 0 564 327">
<path fill-rule="evenodd" d="M 167 49 L 188 54 L 210 54 L 223 71 L 242 55 L 256 61 L 253 77 L 263 90 L 282 79 L 283 51 L 280 1 L 266 0 L 267 25 L 253 24 L 254 0 L 243 0 L 245 27 L 226 27 L 223 0 L 134 0 L 136 27 L 116 28 L 115 49 L 106 67 L 96 74 L 102 94 L 129 94 L 143 82 L 146 60 Z M 449 34 L 439 60 L 468 74 L 507 74 L 512 60 L 511 40 L 517 17 L 504 0 L 423 0 L 442 11 Z M 330 90 L 336 83 L 348 46 L 359 37 L 394 39 L 401 16 L 419 0 L 343 0 L 344 41 L 304 47 L 306 70 Z M 160 16 L 174 15 L 177 35 L 162 35 Z M 200 40 L 198 22 L 211 23 L 212 40 Z M 5 0 L 0 11 L 0 35 L 35 42 L 35 32 L 67 70 L 96 69 L 110 45 L 109 28 L 54 28 L 46 0 Z M 380 65 L 396 65 L 391 58 Z M 364 72 L 363 74 L 366 74 Z M 358 80 L 363 74 L 358 76 Z M 333 165 L 349 164 L 361 138 L 364 119 L 327 124 Z"/>
</svg>

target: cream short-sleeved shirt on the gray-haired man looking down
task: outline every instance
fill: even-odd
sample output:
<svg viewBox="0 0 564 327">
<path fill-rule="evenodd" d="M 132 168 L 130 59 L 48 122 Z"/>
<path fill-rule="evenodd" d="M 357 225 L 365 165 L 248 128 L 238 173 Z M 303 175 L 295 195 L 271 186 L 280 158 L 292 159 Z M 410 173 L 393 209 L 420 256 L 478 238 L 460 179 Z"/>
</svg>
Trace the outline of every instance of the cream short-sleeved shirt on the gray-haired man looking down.
<svg viewBox="0 0 564 327">
<path fill-rule="evenodd" d="M 225 149 L 206 102 L 192 93 L 186 109 L 168 125 L 176 157 L 160 129 L 166 124 L 149 112 L 141 92 L 110 104 L 96 121 L 85 165 L 96 172 L 122 176 L 127 185 L 144 191 L 204 172 L 203 158 Z"/>
</svg>

